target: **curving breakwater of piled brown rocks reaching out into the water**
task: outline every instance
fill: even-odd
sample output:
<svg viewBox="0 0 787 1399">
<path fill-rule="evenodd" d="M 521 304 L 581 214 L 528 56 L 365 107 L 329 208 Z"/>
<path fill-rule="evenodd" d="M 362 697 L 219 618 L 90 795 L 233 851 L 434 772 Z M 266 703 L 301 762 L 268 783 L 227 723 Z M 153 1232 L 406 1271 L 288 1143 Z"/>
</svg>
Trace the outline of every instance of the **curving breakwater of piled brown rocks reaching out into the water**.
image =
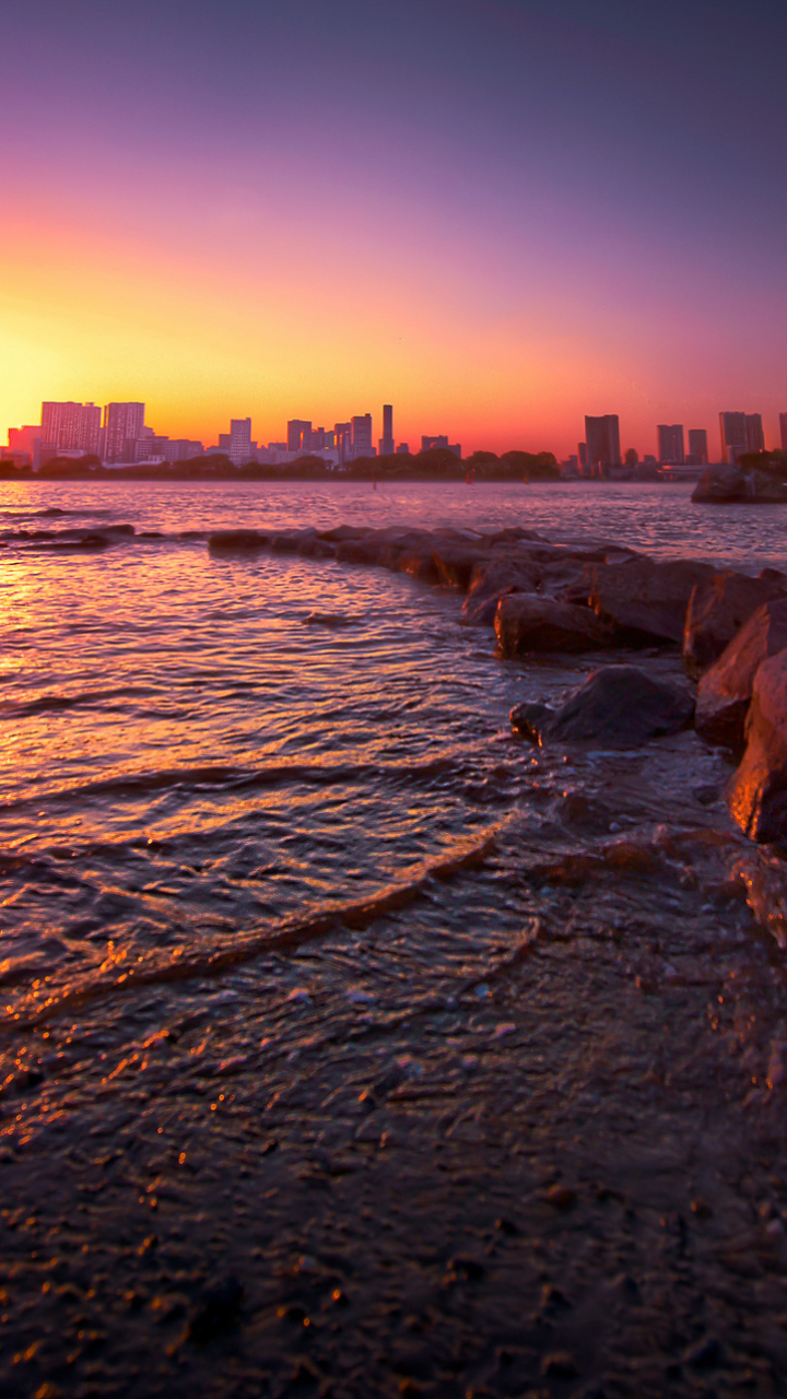
<svg viewBox="0 0 787 1399">
<path fill-rule="evenodd" d="M 699 681 L 699 734 L 739 760 L 731 814 L 753 839 L 787 839 L 787 575 L 655 561 L 615 543 L 557 544 L 521 527 L 225 530 L 209 548 L 381 567 L 454 588 L 468 625 L 494 627 L 501 658 L 639 651 L 639 666 L 601 666 L 557 709 L 515 706 L 514 727 L 541 744 L 630 747 L 690 725 L 693 693 L 650 673 L 682 648 Z"/>
</svg>

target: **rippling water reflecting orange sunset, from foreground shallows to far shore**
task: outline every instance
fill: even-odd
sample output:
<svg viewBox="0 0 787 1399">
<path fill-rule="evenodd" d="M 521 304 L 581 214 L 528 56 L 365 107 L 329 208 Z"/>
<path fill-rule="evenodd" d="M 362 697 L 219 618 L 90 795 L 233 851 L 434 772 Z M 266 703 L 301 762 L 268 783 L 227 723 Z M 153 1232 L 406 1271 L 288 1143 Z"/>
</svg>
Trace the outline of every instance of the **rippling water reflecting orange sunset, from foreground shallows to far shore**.
<svg viewBox="0 0 787 1399">
<path fill-rule="evenodd" d="M 725 757 L 534 750 L 510 708 L 595 659 L 500 662 L 448 589 L 206 534 L 517 523 L 756 571 L 784 513 L 368 483 L 3 484 L 0 512 L 3 1392 L 365 1399 L 438 1358 L 424 1392 L 503 1396 L 546 1347 L 611 1393 L 644 1357 L 655 1396 L 665 1297 L 667 1358 L 713 1297 L 744 1374 L 783 1312 L 787 895 Z M 67 551 L 125 522 L 161 537 Z M 690 1274 L 686 1192 L 716 1220 Z"/>
</svg>

